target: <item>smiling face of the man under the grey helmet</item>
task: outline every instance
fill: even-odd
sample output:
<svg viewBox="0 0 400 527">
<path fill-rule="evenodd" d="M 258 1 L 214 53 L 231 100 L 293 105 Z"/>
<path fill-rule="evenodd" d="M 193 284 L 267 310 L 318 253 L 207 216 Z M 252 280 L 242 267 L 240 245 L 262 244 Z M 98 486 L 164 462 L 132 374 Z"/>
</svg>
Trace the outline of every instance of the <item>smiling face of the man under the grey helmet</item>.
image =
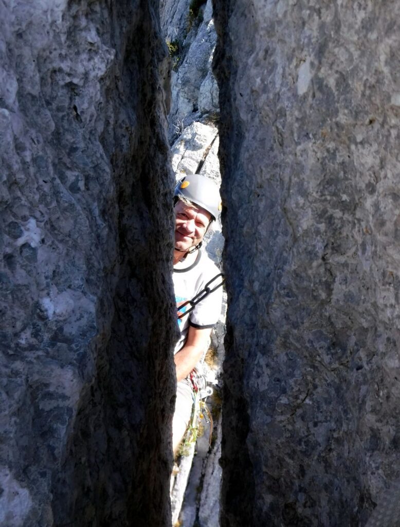
<svg viewBox="0 0 400 527">
<path fill-rule="evenodd" d="M 187 252 L 198 245 L 210 221 L 211 214 L 202 207 L 189 206 L 178 200 L 175 205 L 175 249 Z"/>
</svg>

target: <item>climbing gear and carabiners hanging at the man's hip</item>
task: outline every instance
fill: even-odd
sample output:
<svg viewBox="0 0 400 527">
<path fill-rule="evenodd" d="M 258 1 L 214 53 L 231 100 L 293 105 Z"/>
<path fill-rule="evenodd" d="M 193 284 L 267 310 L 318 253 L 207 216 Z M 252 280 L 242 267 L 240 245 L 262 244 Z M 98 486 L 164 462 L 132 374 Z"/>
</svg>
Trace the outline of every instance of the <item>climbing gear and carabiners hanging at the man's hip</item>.
<svg viewBox="0 0 400 527">
<path fill-rule="evenodd" d="M 213 417 L 209 411 L 205 399 L 212 395 L 213 388 L 207 386 L 207 381 L 204 375 L 200 375 L 196 369 L 192 370 L 189 374 L 189 379 L 192 383 L 194 393 L 194 403 L 192 408 L 192 416 L 189 421 L 187 428 L 184 446 L 194 445 L 197 441 L 198 427 L 200 419 L 205 419 L 206 423 L 210 425 L 210 434 L 208 444 L 211 446 L 212 434 L 213 434 Z"/>
</svg>

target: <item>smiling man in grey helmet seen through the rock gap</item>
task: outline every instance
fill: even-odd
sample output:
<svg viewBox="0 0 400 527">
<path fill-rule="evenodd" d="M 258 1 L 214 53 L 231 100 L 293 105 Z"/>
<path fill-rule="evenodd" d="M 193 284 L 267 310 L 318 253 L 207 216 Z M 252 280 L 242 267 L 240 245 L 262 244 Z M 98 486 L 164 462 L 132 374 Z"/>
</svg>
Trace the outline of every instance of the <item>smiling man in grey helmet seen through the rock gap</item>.
<svg viewBox="0 0 400 527">
<path fill-rule="evenodd" d="M 204 358 L 211 329 L 221 314 L 222 288 L 211 294 L 205 294 L 204 289 L 213 278 L 221 276 L 221 271 L 200 249 L 205 233 L 221 210 L 216 184 L 203 175 L 187 175 L 175 187 L 174 209 L 173 281 L 181 331 L 174 350 L 178 383 L 172 426 L 175 454 L 191 418 L 195 387 L 192 372 Z M 208 290 L 213 286 L 214 282 Z"/>
</svg>

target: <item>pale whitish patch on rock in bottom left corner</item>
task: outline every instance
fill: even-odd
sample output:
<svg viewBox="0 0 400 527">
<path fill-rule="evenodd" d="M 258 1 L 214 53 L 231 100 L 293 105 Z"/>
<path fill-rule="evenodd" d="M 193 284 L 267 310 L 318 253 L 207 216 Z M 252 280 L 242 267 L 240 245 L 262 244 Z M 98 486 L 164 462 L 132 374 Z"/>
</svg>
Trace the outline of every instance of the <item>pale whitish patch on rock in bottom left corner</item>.
<svg viewBox="0 0 400 527">
<path fill-rule="evenodd" d="M 7 467 L 0 467 L 0 525 L 22 527 L 32 509 L 32 499 Z"/>
</svg>

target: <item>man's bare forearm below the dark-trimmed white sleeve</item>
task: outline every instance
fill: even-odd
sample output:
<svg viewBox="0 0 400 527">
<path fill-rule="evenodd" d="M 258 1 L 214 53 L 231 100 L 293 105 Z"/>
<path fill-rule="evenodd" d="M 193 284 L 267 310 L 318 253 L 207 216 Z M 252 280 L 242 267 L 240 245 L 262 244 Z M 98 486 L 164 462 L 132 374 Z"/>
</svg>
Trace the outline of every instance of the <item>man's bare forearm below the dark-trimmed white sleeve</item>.
<svg viewBox="0 0 400 527">
<path fill-rule="evenodd" d="M 210 333 L 211 328 L 199 329 L 189 326 L 184 347 L 174 355 L 177 382 L 187 377 L 201 359 Z"/>
</svg>

